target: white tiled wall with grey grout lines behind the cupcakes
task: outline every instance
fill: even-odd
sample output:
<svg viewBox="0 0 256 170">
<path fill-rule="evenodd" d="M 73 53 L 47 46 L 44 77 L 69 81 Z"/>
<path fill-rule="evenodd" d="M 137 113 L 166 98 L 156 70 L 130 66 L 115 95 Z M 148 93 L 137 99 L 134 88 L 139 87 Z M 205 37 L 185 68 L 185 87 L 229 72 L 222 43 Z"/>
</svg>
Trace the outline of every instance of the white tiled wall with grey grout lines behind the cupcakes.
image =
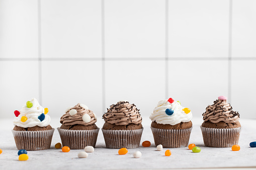
<svg viewBox="0 0 256 170">
<path fill-rule="evenodd" d="M 0 0 L 0 118 L 172 97 L 196 117 L 220 95 L 256 118 L 254 0 Z M 103 121 L 103 120 L 99 120 Z"/>
</svg>

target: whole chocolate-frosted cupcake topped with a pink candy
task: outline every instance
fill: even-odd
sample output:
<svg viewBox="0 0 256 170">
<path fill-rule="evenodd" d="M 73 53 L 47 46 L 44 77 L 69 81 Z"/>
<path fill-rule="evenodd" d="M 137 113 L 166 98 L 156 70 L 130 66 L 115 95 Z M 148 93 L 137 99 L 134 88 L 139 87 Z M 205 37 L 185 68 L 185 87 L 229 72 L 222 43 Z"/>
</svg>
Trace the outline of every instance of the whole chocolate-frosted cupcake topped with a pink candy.
<svg viewBox="0 0 256 170">
<path fill-rule="evenodd" d="M 232 147 L 237 144 L 241 130 L 239 117 L 225 96 L 219 96 L 218 100 L 206 107 L 201 126 L 205 146 Z"/>
</svg>

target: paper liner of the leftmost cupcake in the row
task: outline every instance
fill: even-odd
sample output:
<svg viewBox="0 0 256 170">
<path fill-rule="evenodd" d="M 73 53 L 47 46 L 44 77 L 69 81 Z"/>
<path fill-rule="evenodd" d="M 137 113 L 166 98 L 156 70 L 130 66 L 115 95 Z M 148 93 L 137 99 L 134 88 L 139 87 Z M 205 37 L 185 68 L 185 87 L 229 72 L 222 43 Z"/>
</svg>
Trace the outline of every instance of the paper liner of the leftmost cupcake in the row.
<svg viewBox="0 0 256 170">
<path fill-rule="evenodd" d="M 12 130 L 18 150 L 45 150 L 51 146 L 54 128 L 40 131 Z"/>
</svg>

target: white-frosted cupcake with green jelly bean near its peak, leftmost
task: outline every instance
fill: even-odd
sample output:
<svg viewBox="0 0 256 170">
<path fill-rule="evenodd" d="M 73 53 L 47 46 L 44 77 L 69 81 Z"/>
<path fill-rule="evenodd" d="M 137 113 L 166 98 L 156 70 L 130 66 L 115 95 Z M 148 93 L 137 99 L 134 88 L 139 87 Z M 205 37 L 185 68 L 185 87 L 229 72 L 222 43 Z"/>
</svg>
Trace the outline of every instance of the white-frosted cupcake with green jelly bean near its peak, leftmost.
<svg viewBox="0 0 256 170">
<path fill-rule="evenodd" d="M 40 106 L 35 98 L 18 111 L 15 110 L 12 130 L 17 148 L 26 150 L 44 150 L 51 146 L 54 128 L 49 124 L 48 108 Z"/>
</svg>

